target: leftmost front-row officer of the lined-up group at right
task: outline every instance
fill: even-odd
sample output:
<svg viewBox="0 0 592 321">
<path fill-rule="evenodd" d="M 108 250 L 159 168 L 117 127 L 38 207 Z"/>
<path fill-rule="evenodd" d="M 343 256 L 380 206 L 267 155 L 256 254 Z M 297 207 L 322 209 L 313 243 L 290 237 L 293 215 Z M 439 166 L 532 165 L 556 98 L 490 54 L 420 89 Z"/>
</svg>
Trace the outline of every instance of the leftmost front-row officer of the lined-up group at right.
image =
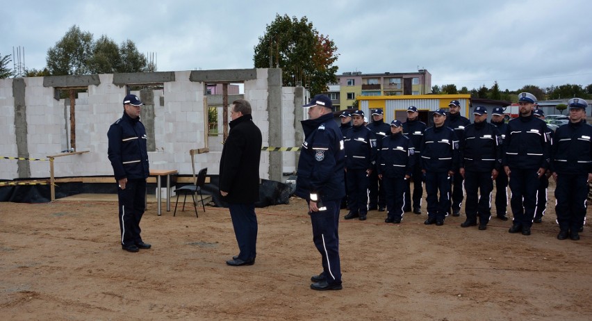
<svg viewBox="0 0 592 321">
<path fill-rule="evenodd" d="M 354 126 L 345 133 L 345 181 L 347 182 L 347 205 L 350 213 L 345 220 L 359 217 L 365 220 L 368 214 L 368 176 L 376 163 L 375 135 L 363 124 L 364 112 L 352 112 Z"/>
</svg>

